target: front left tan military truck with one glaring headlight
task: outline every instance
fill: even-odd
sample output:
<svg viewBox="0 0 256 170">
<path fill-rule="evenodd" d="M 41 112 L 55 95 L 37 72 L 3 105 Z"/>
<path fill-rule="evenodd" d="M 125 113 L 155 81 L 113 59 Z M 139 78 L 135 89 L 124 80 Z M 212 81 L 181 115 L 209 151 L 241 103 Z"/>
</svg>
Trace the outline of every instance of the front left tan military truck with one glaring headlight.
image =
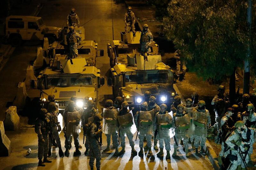
<svg viewBox="0 0 256 170">
<path fill-rule="evenodd" d="M 72 61 L 73 64 L 70 60 L 56 60 L 56 65 L 45 68 L 37 77 L 37 88 L 41 90 L 40 100 L 46 101 L 50 94 L 54 94 L 60 112 L 64 111 L 71 96 L 76 96 L 78 107 L 86 108 L 88 100 L 93 100 L 97 107 L 98 88 L 104 85 L 99 69 L 86 66 L 84 58 Z M 31 85 L 35 85 L 32 80 Z"/>
</svg>

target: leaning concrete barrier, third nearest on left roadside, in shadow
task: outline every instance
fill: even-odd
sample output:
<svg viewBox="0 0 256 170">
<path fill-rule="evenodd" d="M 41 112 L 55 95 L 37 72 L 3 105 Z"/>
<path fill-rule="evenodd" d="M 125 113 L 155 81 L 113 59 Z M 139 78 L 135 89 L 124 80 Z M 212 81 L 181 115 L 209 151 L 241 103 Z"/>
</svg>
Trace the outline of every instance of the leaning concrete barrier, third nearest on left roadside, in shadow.
<svg viewBox="0 0 256 170">
<path fill-rule="evenodd" d="M 17 108 L 24 108 L 26 104 L 26 98 L 28 94 L 26 91 L 25 82 L 19 82 L 16 98 L 13 101 L 13 105 Z"/>
</svg>

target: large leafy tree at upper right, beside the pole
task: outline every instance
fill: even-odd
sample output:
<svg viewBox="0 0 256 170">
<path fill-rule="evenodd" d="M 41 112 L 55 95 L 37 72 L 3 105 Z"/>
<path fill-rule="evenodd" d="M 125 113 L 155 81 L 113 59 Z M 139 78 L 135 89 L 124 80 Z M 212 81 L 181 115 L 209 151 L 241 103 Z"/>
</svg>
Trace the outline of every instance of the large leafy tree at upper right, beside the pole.
<svg viewBox="0 0 256 170">
<path fill-rule="evenodd" d="M 234 73 L 243 68 L 248 47 L 247 5 L 246 0 L 172 0 L 164 18 L 166 37 L 182 51 L 189 70 L 204 79 L 230 78 L 231 100 Z"/>
</svg>

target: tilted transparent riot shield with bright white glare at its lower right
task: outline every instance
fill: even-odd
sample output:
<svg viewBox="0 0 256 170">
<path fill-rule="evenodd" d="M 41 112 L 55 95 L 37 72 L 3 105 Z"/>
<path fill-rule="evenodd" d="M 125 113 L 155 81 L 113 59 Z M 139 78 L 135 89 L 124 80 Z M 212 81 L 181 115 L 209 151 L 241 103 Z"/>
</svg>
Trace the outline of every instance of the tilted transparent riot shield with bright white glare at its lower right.
<svg viewBox="0 0 256 170">
<path fill-rule="evenodd" d="M 117 116 L 118 122 L 120 127 L 125 128 L 125 127 L 130 127 L 132 134 L 134 134 L 137 131 L 134 118 L 132 115 L 132 110 L 130 110 L 129 113 L 122 115 L 122 116 Z"/>
</svg>

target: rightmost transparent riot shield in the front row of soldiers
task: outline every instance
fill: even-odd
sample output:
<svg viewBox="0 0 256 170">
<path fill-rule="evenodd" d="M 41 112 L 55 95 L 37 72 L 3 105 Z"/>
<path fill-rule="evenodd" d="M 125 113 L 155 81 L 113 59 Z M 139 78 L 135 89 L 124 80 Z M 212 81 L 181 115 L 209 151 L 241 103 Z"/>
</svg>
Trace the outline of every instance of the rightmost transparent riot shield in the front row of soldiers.
<svg viewBox="0 0 256 170">
<path fill-rule="evenodd" d="M 193 111 L 192 133 L 207 136 L 207 115 L 204 112 Z"/>
</svg>

